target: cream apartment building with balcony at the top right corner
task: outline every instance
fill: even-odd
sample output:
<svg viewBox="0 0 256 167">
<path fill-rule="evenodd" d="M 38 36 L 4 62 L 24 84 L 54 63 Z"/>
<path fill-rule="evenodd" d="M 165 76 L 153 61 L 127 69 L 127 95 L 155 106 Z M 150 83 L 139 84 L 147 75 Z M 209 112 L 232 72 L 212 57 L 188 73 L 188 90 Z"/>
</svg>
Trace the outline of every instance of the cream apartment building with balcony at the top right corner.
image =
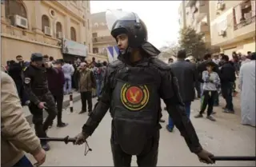
<svg viewBox="0 0 256 167">
<path fill-rule="evenodd" d="M 233 51 L 255 51 L 255 1 L 210 1 L 210 37 L 231 58 Z"/>
</svg>

